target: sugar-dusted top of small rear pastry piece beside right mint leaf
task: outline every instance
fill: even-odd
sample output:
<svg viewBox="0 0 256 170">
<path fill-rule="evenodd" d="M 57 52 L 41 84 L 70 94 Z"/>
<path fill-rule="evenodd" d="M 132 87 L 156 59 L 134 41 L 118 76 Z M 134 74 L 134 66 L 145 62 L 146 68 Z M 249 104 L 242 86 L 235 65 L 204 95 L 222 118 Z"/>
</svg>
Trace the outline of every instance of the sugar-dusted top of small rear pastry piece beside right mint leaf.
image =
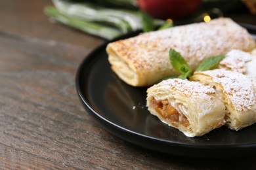
<svg viewBox="0 0 256 170">
<path fill-rule="evenodd" d="M 252 56 L 248 52 L 243 52 L 242 50 L 231 50 L 219 64 L 221 67 L 230 69 L 231 71 L 245 73 L 245 63 L 251 61 L 251 59 Z"/>
</svg>

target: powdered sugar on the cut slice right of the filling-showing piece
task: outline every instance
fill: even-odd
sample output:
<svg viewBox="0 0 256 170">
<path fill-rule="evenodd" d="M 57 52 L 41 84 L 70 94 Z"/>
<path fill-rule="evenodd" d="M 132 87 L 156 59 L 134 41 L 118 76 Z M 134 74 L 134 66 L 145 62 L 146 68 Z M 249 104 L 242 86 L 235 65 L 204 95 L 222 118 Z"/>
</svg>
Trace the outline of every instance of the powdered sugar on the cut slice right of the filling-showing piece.
<svg viewBox="0 0 256 170">
<path fill-rule="evenodd" d="M 229 97 L 236 110 L 251 110 L 255 106 L 254 87 L 248 76 L 224 69 L 203 71 L 202 73 L 211 76 L 213 82 L 223 86 L 224 94 Z"/>
</svg>

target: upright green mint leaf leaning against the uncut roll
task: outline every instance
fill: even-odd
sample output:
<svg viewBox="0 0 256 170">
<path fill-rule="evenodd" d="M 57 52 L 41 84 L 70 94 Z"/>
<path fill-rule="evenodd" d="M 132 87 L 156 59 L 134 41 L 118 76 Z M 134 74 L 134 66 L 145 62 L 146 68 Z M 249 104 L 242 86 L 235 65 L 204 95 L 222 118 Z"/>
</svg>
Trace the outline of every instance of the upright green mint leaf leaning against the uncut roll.
<svg viewBox="0 0 256 170">
<path fill-rule="evenodd" d="M 183 76 L 189 76 L 192 73 L 192 70 L 186 63 L 185 59 L 181 54 L 173 49 L 169 50 L 169 59 L 173 68 L 179 71 Z M 182 77 L 182 75 L 180 75 Z M 182 77 L 184 79 L 184 77 Z"/>
</svg>

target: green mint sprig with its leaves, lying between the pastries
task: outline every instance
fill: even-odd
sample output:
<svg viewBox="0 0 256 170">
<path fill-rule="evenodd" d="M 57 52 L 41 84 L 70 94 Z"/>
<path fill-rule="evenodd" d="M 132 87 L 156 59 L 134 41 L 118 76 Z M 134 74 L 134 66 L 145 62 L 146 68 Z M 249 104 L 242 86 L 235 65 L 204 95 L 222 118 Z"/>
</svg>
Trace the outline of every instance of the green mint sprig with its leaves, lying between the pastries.
<svg viewBox="0 0 256 170">
<path fill-rule="evenodd" d="M 213 69 L 213 67 L 218 65 L 219 62 L 224 59 L 224 57 L 225 55 L 221 54 L 221 55 L 211 56 L 209 58 L 206 58 L 198 66 L 196 71 L 206 71 L 206 70 Z M 181 56 L 179 52 L 171 48 L 169 50 L 169 59 L 170 59 L 171 65 L 173 65 L 173 68 L 176 71 L 179 71 L 179 73 L 181 73 L 181 75 L 179 75 L 178 78 L 186 79 L 192 75 L 192 69 L 190 69 L 188 63 L 186 63 L 186 60 Z"/>
</svg>

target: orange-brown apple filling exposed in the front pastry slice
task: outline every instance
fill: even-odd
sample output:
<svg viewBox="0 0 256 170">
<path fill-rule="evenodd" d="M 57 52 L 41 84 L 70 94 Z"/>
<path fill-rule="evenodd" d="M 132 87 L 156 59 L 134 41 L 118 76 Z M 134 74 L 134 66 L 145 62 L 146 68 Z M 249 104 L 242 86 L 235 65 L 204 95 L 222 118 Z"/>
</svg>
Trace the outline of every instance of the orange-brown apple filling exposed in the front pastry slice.
<svg viewBox="0 0 256 170">
<path fill-rule="evenodd" d="M 190 126 L 188 119 L 184 114 L 175 109 L 167 99 L 157 101 L 155 98 L 151 101 L 152 106 L 160 114 L 163 120 L 171 122 L 173 126 L 179 127 L 180 125 L 187 127 Z"/>
</svg>

